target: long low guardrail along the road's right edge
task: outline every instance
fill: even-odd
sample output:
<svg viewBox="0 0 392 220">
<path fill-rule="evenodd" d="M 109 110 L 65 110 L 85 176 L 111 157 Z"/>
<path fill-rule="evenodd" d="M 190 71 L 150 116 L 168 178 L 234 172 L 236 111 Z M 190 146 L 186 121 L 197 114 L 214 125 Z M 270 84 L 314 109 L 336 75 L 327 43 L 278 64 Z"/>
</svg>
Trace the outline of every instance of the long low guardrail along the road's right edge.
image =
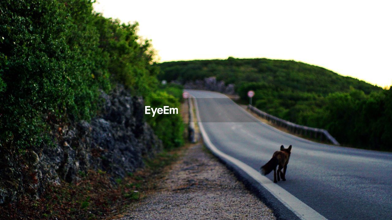
<svg viewBox="0 0 392 220">
<path fill-rule="evenodd" d="M 278 117 L 275 117 L 273 115 L 270 115 L 266 112 L 263 112 L 260 109 L 254 107 L 252 105 L 248 105 L 248 108 L 250 111 L 256 113 L 260 117 L 267 119 L 268 121 L 271 121 L 272 123 L 275 123 L 278 126 L 281 126 L 283 128 L 287 128 L 290 132 L 298 133 L 298 134 L 302 134 L 302 135 L 306 135 L 306 136 L 309 135 L 310 137 L 313 137 L 316 139 L 319 138 L 320 141 L 327 139 L 328 141 L 330 141 L 334 145 L 340 145 L 339 142 L 336 141 L 336 139 L 334 137 L 332 137 L 332 135 L 330 135 L 330 133 L 325 129 L 312 128 L 312 127 L 308 127 L 308 126 L 295 124 L 295 123 L 280 119 Z"/>
</svg>

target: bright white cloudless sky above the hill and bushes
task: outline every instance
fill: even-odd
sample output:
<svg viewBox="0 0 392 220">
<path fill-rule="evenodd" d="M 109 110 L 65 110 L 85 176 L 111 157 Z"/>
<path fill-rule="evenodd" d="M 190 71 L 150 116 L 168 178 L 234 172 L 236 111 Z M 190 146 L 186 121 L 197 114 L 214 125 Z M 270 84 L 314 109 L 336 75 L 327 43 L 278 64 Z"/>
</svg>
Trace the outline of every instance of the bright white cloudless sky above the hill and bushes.
<svg viewBox="0 0 392 220">
<path fill-rule="evenodd" d="M 139 22 L 161 62 L 296 60 L 392 85 L 390 0 L 97 0 L 94 9 Z"/>
</svg>

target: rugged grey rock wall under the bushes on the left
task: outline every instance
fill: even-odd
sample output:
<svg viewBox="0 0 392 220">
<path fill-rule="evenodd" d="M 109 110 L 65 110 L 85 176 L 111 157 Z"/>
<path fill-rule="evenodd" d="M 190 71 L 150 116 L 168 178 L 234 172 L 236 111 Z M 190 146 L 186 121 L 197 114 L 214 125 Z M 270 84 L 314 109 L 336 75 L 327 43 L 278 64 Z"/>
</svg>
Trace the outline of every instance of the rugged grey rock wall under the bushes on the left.
<svg viewBox="0 0 392 220">
<path fill-rule="evenodd" d="M 25 155 L 0 150 L 0 204 L 21 195 L 38 197 L 48 184 L 74 182 L 90 169 L 123 177 L 143 166 L 143 156 L 162 150 L 162 141 L 143 120 L 141 97 L 131 97 L 122 86 L 102 97 L 102 113 L 89 123 L 54 125 L 54 144 Z"/>
</svg>

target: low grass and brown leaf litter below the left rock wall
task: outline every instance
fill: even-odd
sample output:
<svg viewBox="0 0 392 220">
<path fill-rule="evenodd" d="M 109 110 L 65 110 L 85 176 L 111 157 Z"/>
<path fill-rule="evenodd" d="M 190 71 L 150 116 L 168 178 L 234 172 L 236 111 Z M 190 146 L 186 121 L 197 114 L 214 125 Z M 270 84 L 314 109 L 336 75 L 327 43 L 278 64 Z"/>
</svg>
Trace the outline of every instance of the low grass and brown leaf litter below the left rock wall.
<svg viewBox="0 0 392 220">
<path fill-rule="evenodd" d="M 168 88 L 171 86 L 161 89 Z M 187 114 L 187 105 L 183 103 L 181 119 L 186 120 Z M 183 132 L 181 136 L 185 139 L 187 133 Z M 159 189 L 171 165 L 188 146 L 187 142 L 181 147 L 166 148 L 153 158 L 146 156 L 143 159 L 145 166 L 127 173 L 124 178 L 113 179 L 102 170 L 80 172 L 76 183 L 69 184 L 63 180 L 60 185 L 49 186 L 36 200 L 23 197 L 17 202 L 0 206 L 0 219 L 118 219 L 132 203 Z"/>
</svg>

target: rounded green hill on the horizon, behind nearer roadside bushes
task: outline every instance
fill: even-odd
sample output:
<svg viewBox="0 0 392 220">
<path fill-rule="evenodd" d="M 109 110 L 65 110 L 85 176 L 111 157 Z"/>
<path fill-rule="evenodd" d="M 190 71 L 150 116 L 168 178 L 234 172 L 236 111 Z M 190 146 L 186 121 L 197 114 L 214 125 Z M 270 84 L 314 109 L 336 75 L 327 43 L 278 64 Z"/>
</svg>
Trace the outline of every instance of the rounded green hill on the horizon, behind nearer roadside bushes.
<svg viewBox="0 0 392 220">
<path fill-rule="evenodd" d="M 274 87 L 327 95 L 331 92 L 348 92 L 350 87 L 366 94 L 381 90 L 364 81 L 340 76 L 322 67 L 291 60 L 235 59 L 193 60 L 160 63 L 160 79 L 181 82 L 216 76 L 237 86 L 245 82 L 263 82 Z"/>
</svg>

